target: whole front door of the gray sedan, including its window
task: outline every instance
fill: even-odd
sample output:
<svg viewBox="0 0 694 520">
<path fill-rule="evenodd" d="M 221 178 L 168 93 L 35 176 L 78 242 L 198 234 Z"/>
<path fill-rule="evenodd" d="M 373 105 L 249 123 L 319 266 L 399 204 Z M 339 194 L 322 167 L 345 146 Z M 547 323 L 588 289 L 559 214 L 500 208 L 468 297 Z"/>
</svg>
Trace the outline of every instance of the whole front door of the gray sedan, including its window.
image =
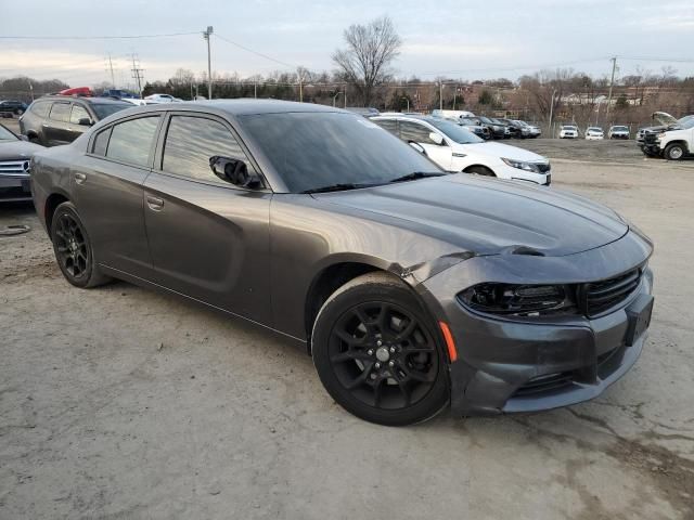
<svg viewBox="0 0 694 520">
<path fill-rule="evenodd" d="M 155 281 L 261 323 L 271 320 L 271 193 L 219 179 L 210 157 L 254 165 L 228 121 L 172 113 L 144 185 L 145 226 Z"/>
</svg>

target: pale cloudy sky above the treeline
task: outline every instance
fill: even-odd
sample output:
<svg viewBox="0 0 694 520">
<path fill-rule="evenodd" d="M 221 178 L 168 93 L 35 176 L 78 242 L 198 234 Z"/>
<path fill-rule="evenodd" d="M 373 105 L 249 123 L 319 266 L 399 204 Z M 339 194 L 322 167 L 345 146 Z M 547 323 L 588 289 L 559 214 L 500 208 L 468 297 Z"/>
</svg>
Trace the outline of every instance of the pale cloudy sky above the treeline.
<svg viewBox="0 0 694 520">
<path fill-rule="evenodd" d="M 509 0 L 331 2 L 281 0 L 0 0 L 0 36 L 130 36 L 215 32 L 288 65 L 332 70 L 331 53 L 343 44 L 343 30 L 387 14 L 403 40 L 395 63 L 399 76 L 438 75 L 475 79 L 509 77 L 543 67 L 567 66 L 608 75 L 611 55 L 618 74 L 637 66 L 659 73 L 663 66 L 694 76 L 694 0 Z M 434 6 L 436 5 L 436 6 Z M 282 69 L 214 37 L 213 69 L 242 75 Z M 116 82 L 125 86 L 137 53 L 147 80 L 166 79 L 179 67 L 206 69 L 205 42 L 198 32 L 129 40 L 0 39 L 0 77 L 18 74 L 59 78 L 72 86 L 110 79 L 105 56 L 113 56 Z M 627 60 L 660 57 L 682 62 Z M 689 63 L 684 62 L 690 60 Z"/>
</svg>

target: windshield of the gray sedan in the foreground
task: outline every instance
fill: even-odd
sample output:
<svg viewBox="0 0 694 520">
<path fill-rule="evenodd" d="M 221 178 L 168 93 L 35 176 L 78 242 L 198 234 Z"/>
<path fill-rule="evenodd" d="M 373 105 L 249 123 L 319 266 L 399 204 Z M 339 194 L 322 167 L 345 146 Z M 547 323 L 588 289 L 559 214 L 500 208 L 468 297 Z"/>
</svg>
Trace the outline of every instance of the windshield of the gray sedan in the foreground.
<svg viewBox="0 0 694 520">
<path fill-rule="evenodd" d="M 239 119 L 292 193 L 441 172 L 412 146 L 355 114 L 254 114 Z"/>
</svg>

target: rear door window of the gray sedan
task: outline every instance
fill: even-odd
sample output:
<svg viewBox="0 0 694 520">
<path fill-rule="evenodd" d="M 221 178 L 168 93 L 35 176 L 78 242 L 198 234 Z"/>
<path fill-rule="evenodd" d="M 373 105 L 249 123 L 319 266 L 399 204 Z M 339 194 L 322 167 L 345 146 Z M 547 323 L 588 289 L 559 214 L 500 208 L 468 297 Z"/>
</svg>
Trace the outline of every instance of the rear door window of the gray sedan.
<svg viewBox="0 0 694 520">
<path fill-rule="evenodd" d="M 150 116 L 114 125 L 106 157 L 134 166 L 150 166 L 150 154 L 158 122 L 159 116 Z"/>
</svg>

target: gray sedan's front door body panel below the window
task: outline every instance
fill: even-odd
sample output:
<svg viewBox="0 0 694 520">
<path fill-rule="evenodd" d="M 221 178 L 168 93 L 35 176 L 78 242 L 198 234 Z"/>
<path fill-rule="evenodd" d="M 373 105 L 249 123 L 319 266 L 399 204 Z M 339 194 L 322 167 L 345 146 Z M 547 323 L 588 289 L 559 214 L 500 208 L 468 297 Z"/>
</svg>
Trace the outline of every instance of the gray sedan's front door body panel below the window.
<svg viewBox="0 0 694 520">
<path fill-rule="evenodd" d="M 269 323 L 271 194 L 158 172 L 144 186 L 154 281 Z"/>
</svg>

